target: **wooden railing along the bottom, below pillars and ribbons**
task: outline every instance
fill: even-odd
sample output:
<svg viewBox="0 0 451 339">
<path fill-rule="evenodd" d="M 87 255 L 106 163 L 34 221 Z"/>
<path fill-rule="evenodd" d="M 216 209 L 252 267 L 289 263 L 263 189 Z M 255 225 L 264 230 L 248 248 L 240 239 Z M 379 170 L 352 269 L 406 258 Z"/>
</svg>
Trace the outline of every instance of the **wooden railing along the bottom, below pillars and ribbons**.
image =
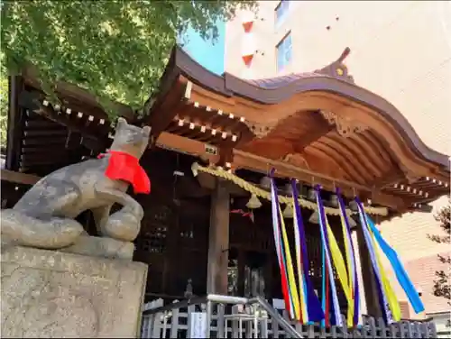
<svg viewBox="0 0 451 339">
<path fill-rule="evenodd" d="M 385 325 L 364 316 L 356 328 L 300 325 L 280 314 L 262 298 L 208 295 L 174 301 L 162 299 L 144 305 L 142 338 L 436 338 L 431 321 L 402 320 Z"/>
</svg>

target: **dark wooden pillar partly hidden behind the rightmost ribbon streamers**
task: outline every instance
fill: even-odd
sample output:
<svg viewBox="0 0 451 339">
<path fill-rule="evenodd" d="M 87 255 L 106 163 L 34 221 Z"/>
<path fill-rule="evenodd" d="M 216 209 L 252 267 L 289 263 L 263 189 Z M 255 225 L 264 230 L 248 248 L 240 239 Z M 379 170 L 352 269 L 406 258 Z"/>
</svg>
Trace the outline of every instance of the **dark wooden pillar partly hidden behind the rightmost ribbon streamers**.
<svg viewBox="0 0 451 339">
<path fill-rule="evenodd" d="M 374 270 L 370 252 L 368 251 L 368 247 L 366 246 L 366 242 L 364 240 L 364 232 L 362 231 L 362 227 L 360 225 L 356 227 L 355 232 L 357 234 L 360 267 L 362 269 L 362 279 L 364 282 L 364 290 L 362 290 L 360 293 L 361 296 L 362 294 L 364 294 L 368 316 L 379 318 L 382 317 L 382 309 L 379 304 L 377 283 L 374 279 Z"/>
</svg>

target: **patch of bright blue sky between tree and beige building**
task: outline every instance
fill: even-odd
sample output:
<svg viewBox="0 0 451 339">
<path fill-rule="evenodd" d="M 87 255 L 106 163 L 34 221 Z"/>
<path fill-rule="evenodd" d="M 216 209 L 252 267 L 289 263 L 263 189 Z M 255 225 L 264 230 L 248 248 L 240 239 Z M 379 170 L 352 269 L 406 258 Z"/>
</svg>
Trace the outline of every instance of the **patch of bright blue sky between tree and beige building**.
<svg viewBox="0 0 451 339">
<path fill-rule="evenodd" d="M 219 37 L 215 42 L 211 39 L 204 41 L 192 28 L 186 32 L 188 43 L 183 47 L 189 55 L 206 69 L 222 75 L 224 73 L 224 49 L 226 23 L 216 22 Z"/>
</svg>

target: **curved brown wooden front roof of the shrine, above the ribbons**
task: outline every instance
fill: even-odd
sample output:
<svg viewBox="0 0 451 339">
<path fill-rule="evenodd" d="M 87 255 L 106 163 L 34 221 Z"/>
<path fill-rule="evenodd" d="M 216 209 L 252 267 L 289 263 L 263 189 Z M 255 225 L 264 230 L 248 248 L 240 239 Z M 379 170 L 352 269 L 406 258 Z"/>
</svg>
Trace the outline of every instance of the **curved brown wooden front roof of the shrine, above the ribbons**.
<svg viewBox="0 0 451 339">
<path fill-rule="evenodd" d="M 185 142 L 201 152 L 194 141 L 207 142 L 230 150 L 233 168 L 275 166 L 280 176 L 346 186 L 397 210 L 447 194 L 448 156 L 421 142 L 391 103 L 355 85 L 348 53 L 313 72 L 244 80 L 217 76 L 176 47 L 144 123 L 156 137 L 182 137 L 176 149 Z"/>
</svg>

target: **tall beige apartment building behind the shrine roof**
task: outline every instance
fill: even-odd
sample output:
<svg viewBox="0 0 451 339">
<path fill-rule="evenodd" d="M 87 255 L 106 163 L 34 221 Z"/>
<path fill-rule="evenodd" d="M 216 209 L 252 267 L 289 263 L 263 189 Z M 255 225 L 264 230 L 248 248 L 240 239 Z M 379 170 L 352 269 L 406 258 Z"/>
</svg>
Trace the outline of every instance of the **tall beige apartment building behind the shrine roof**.
<svg viewBox="0 0 451 339">
<path fill-rule="evenodd" d="M 261 1 L 258 14 L 240 13 L 226 24 L 226 72 L 241 78 L 273 78 L 308 72 L 345 59 L 355 83 L 386 98 L 405 115 L 434 150 L 451 153 L 450 1 Z M 244 32 L 244 22 L 252 28 Z M 252 60 L 244 54 L 252 53 Z M 434 297 L 438 253 L 446 245 L 428 240 L 439 234 L 433 212 L 412 213 L 380 224 L 399 253 L 426 306 L 423 315 L 449 311 Z M 446 270 L 449 270 L 446 268 Z M 400 300 L 405 298 L 395 279 Z M 449 317 L 447 315 L 447 317 Z"/>
</svg>

